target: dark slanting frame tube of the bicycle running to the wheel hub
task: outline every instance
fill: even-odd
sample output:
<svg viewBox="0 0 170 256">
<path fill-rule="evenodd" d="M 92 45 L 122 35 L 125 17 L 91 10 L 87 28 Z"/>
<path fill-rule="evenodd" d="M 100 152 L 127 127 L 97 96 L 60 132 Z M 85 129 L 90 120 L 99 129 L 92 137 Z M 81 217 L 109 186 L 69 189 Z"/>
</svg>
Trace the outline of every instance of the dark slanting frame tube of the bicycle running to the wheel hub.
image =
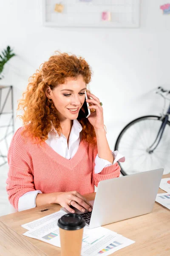
<svg viewBox="0 0 170 256">
<path fill-rule="evenodd" d="M 169 108 L 167 110 L 167 113 L 165 115 L 163 115 L 162 117 L 162 124 L 161 124 L 161 127 L 159 129 L 159 132 L 158 132 L 158 135 L 156 137 L 156 140 L 154 141 L 154 143 L 149 147 L 147 148 L 147 152 L 149 154 L 152 154 L 153 151 L 157 148 L 157 146 L 159 145 L 160 141 L 161 141 L 161 138 L 162 138 L 162 135 L 164 133 L 164 128 L 167 124 L 167 121 L 168 121 L 168 117 L 169 117 L 169 114 L 170 114 L 170 105 L 169 105 Z"/>
</svg>

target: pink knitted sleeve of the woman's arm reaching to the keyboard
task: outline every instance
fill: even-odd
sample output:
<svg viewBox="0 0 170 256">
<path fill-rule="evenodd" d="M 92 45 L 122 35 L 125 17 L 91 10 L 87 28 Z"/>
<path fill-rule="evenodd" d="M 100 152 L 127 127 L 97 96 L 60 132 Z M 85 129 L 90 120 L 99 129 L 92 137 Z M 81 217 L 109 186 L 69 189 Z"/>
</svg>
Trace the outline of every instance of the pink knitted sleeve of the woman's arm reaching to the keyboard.
<svg viewBox="0 0 170 256">
<path fill-rule="evenodd" d="M 27 150 L 26 140 L 23 139 L 19 128 L 11 140 L 8 150 L 8 177 L 6 191 L 10 204 L 18 210 L 19 198 L 26 192 L 34 191 L 33 165 Z"/>
</svg>

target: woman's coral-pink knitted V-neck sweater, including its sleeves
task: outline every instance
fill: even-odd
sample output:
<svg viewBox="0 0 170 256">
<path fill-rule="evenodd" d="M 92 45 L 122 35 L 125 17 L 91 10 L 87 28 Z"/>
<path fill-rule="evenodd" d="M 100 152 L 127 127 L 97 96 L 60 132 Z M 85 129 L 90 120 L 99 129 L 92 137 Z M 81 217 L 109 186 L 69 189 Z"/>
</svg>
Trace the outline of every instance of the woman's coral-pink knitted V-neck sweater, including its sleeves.
<svg viewBox="0 0 170 256">
<path fill-rule="evenodd" d="M 94 192 L 100 180 L 119 177 L 120 166 L 115 163 L 94 173 L 97 145 L 81 140 L 71 159 L 55 152 L 47 143 L 35 144 L 30 137 L 23 137 L 19 128 L 8 150 L 9 172 L 6 180 L 8 200 L 18 210 L 18 200 L 28 191 L 42 193 L 76 190 L 82 195 Z"/>
</svg>

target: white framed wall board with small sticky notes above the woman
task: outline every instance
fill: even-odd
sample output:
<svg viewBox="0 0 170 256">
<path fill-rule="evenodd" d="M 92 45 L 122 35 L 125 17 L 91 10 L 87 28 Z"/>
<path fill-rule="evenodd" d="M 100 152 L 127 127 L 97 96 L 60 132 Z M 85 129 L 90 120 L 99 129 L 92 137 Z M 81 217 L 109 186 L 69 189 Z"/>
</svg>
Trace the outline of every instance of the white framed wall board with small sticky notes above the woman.
<svg viewBox="0 0 170 256">
<path fill-rule="evenodd" d="M 44 26 L 91 28 L 139 27 L 140 0 L 55 1 L 42 0 Z"/>
</svg>

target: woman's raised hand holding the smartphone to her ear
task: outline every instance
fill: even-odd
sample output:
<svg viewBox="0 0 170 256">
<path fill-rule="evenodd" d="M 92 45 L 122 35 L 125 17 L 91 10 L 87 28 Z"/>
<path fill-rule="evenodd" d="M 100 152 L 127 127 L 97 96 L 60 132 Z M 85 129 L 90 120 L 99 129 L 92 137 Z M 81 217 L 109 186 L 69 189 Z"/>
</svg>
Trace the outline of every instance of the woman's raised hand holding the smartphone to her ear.
<svg viewBox="0 0 170 256">
<path fill-rule="evenodd" d="M 91 103 L 91 106 L 88 108 L 95 109 L 95 112 L 91 112 L 90 116 L 88 117 L 88 121 L 91 123 L 91 125 L 93 125 L 94 129 L 104 128 L 103 108 L 100 105 L 100 100 L 92 93 L 87 92 L 87 95 L 92 98 L 86 100 L 86 102 Z"/>
</svg>

